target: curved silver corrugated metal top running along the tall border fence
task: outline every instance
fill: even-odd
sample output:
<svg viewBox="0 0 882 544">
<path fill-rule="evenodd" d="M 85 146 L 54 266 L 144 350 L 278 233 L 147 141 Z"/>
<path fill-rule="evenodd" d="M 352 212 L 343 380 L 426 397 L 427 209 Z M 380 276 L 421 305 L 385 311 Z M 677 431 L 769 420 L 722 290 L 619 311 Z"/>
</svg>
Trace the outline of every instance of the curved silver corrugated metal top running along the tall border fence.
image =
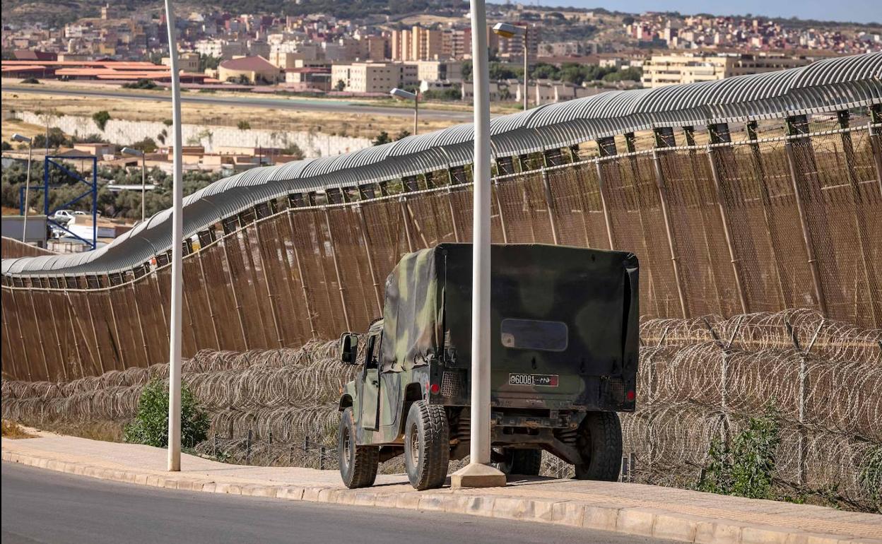
<svg viewBox="0 0 882 544">
<path fill-rule="evenodd" d="M 882 53 L 841 56 L 800 68 L 653 89 L 610 91 L 545 104 L 490 122 L 496 157 L 536 153 L 656 127 L 736 123 L 869 106 L 882 101 Z M 252 168 L 183 201 L 185 236 L 293 192 L 366 183 L 472 162 L 474 129 L 455 125 L 385 145 Z M 3 259 L 9 275 L 82 275 L 129 270 L 171 247 L 171 210 L 157 212 L 108 246 L 76 255 Z"/>
</svg>

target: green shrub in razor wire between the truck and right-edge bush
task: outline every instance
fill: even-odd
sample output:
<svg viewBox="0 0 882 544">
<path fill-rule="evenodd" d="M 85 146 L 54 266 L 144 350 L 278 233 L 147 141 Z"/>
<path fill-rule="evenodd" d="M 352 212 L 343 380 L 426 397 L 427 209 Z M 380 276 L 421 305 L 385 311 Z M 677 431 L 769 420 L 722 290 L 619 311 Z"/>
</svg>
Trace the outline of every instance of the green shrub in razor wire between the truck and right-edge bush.
<svg viewBox="0 0 882 544">
<path fill-rule="evenodd" d="M 751 417 L 748 427 L 738 433 L 731 445 L 714 440 L 710 458 L 699 481 L 699 491 L 751 499 L 772 497 L 775 452 L 781 443 L 779 413 L 774 406 Z"/>
</svg>

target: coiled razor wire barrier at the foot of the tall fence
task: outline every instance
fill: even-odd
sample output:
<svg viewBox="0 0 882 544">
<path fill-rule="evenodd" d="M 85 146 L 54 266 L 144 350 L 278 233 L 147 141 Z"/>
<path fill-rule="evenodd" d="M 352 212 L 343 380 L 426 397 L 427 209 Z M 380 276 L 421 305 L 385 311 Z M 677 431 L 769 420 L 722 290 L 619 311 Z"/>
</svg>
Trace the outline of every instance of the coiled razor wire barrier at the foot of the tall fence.
<svg viewBox="0 0 882 544">
<path fill-rule="evenodd" d="M 882 330 L 810 309 L 645 321 L 639 409 L 621 415 L 626 478 L 694 485 L 711 442 L 730 441 L 771 403 L 781 429 L 776 486 L 797 498 L 877 510 L 878 493 L 861 473 L 882 451 L 880 342 Z M 336 400 L 355 371 L 337 350 L 336 342 L 312 342 L 202 351 L 185 361 L 183 380 L 211 416 L 209 438 L 191 445 L 227 462 L 336 468 Z M 102 421 L 119 427 L 134 417 L 143 386 L 167 375 L 168 365 L 156 364 L 64 384 L 4 380 L 3 416 L 63 430 Z M 400 458 L 384 470 L 400 472 Z M 572 476 L 572 466 L 546 454 L 542 473 Z"/>
</svg>

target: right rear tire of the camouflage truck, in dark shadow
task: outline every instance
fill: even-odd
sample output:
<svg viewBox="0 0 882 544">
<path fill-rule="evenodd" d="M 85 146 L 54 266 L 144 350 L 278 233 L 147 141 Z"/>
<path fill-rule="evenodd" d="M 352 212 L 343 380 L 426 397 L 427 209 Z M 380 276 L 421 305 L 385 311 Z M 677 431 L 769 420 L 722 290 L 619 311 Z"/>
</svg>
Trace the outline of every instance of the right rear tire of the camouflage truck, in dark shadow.
<svg viewBox="0 0 882 544">
<path fill-rule="evenodd" d="M 622 469 L 622 424 L 615 412 L 589 412 L 579 426 L 582 462 L 576 480 L 617 481 Z"/>
</svg>

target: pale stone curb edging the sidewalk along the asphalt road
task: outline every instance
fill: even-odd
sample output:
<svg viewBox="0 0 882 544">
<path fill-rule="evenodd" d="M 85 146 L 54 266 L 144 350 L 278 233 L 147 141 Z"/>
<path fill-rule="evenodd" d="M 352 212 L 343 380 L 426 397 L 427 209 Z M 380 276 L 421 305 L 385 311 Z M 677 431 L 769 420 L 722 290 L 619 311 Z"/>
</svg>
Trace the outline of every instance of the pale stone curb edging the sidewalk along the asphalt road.
<svg viewBox="0 0 882 544">
<path fill-rule="evenodd" d="M 871 544 L 877 539 L 841 538 L 832 534 L 701 518 L 668 510 L 619 507 L 614 504 L 580 503 L 573 500 L 480 495 L 476 490 L 437 489 L 433 491 L 389 492 L 382 488 L 346 489 L 288 484 L 214 481 L 205 476 L 170 475 L 154 471 L 134 471 L 56 458 L 3 451 L 3 460 L 60 473 L 120 481 L 154 488 L 257 496 L 288 501 L 377 506 L 403 510 L 441 511 L 515 519 L 556 525 L 583 527 L 611 533 L 625 533 L 695 544 Z"/>
</svg>

